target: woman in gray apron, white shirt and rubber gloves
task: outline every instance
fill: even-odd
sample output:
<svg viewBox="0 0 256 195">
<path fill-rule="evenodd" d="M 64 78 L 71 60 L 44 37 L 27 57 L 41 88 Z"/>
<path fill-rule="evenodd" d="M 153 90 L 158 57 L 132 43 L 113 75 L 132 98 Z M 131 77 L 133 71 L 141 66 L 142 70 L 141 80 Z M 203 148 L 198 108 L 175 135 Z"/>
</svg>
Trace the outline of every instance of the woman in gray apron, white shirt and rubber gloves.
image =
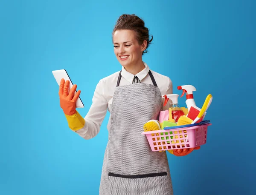
<svg viewBox="0 0 256 195">
<path fill-rule="evenodd" d="M 152 38 L 153 39 L 153 38 Z M 76 85 L 61 80 L 60 104 L 70 129 L 84 139 L 95 137 L 107 109 L 109 141 L 99 189 L 100 195 L 172 195 L 166 152 L 152 152 L 143 125 L 157 119 L 163 94 L 172 94 L 172 81 L 149 69 L 142 55 L 147 52 L 148 29 L 136 15 L 123 14 L 113 29 L 114 53 L 122 70 L 103 78 L 96 86 L 93 103 L 82 118 L 76 111 Z M 177 150 L 175 155 L 190 153 Z"/>
</svg>

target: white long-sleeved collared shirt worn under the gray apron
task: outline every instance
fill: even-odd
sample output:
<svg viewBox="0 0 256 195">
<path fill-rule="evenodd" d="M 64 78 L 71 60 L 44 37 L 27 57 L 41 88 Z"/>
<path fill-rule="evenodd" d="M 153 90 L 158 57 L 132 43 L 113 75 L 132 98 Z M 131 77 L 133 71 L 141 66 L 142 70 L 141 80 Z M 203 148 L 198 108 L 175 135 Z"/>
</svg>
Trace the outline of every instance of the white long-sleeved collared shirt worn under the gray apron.
<svg viewBox="0 0 256 195">
<path fill-rule="evenodd" d="M 136 74 L 136 76 L 140 79 L 141 83 L 153 84 L 151 77 L 148 74 L 149 67 L 145 62 L 144 66 L 145 69 Z M 173 89 L 172 81 L 170 80 L 170 78 L 164 75 L 160 75 L 159 73 L 154 72 L 152 70 L 151 73 L 154 76 L 158 88 L 160 89 L 161 95 L 172 94 Z M 132 84 L 134 75 L 126 71 L 124 67 L 122 67 L 121 75 L 122 78 L 120 80 L 119 86 Z M 108 132 L 110 132 L 111 106 L 118 76 L 119 71 L 99 80 L 99 83 L 97 84 L 93 95 L 93 103 L 89 109 L 89 112 L 84 117 L 85 125 L 83 128 L 76 131 L 76 133 L 78 133 L 82 138 L 91 139 L 99 133 L 99 129 L 102 124 L 102 121 L 106 116 L 107 109 L 110 112 L 110 118 L 108 120 L 107 125 Z M 166 106 L 168 106 L 168 104 Z M 163 110 L 165 109 L 166 108 L 163 107 Z"/>
</svg>

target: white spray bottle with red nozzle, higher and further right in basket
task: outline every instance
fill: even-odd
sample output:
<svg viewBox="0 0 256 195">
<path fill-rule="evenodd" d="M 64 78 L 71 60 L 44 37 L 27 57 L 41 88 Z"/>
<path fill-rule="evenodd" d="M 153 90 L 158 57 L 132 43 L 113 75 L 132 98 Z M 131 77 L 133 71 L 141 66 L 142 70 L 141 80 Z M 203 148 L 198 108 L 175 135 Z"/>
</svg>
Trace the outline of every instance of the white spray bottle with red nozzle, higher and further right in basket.
<svg viewBox="0 0 256 195">
<path fill-rule="evenodd" d="M 195 100 L 193 96 L 193 92 L 196 91 L 195 87 L 192 85 L 182 85 L 178 86 L 178 90 L 182 89 L 183 93 L 180 97 L 182 97 L 186 93 L 186 105 L 188 110 L 190 110 L 190 107 L 193 106 L 195 109 L 198 109 L 199 111 L 201 110 L 195 105 Z"/>
</svg>

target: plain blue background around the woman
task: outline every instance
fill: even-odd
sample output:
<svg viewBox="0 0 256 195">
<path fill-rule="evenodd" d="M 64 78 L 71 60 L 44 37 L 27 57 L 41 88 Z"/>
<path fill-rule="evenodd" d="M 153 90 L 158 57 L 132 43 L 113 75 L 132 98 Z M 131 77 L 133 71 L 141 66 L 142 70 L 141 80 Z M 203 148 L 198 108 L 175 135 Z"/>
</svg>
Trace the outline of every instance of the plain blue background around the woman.
<svg viewBox="0 0 256 195">
<path fill-rule="evenodd" d="M 9 0 L 0 3 L 0 194 L 97 195 L 106 125 L 84 140 L 67 126 L 52 70 L 67 69 L 85 116 L 98 81 L 119 71 L 111 33 L 123 13 L 154 36 L 143 60 L 197 106 L 213 95 L 207 144 L 168 153 L 175 195 L 255 193 L 256 27 L 253 0 Z M 179 98 L 186 106 L 185 97 Z"/>
</svg>

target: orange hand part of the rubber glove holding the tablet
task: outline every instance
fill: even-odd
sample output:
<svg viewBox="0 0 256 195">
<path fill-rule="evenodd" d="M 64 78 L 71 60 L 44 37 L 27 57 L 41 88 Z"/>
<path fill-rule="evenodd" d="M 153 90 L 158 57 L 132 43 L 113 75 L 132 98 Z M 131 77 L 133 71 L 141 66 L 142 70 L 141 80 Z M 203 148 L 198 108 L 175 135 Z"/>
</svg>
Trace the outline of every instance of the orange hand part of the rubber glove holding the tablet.
<svg viewBox="0 0 256 195">
<path fill-rule="evenodd" d="M 61 79 L 60 87 L 59 87 L 59 97 L 60 97 L 60 105 L 63 109 L 63 112 L 66 115 L 73 115 L 76 113 L 76 100 L 79 98 L 81 91 L 79 90 L 76 94 L 76 84 L 69 91 L 69 80 Z"/>
</svg>

